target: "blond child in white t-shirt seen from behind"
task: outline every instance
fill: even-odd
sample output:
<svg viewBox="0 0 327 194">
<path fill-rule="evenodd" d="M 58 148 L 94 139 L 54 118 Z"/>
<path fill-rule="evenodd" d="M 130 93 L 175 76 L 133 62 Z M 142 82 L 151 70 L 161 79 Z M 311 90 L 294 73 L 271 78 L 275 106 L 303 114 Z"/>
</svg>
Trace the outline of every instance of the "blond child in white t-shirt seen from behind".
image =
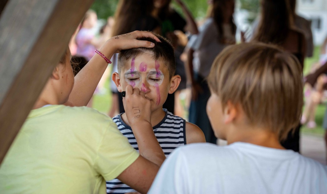
<svg viewBox="0 0 327 194">
<path fill-rule="evenodd" d="M 207 112 L 229 145 L 176 150 L 148 193 L 325 193 L 327 167 L 279 141 L 300 120 L 301 71 L 293 55 L 264 43 L 224 49 L 208 77 Z"/>
</svg>

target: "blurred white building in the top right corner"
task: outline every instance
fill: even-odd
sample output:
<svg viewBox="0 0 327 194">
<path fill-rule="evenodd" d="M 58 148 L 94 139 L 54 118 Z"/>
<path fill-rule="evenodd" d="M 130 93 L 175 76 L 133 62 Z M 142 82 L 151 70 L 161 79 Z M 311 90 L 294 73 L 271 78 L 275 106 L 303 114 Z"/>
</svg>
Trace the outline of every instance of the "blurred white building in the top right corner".
<svg viewBox="0 0 327 194">
<path fill-rule="evenodd" d="M 311 20 L 314 44 L 322 44 L 327 36 L 327 0 L 297 0 L 297 13 Z"/>
</svg>

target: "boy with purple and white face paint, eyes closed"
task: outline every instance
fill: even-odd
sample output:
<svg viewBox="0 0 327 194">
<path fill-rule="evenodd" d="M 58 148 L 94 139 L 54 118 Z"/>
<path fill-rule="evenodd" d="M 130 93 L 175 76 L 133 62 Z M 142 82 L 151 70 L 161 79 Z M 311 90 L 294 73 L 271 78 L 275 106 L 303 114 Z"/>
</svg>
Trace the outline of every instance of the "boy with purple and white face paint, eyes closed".
<svg viewBox="0 0 327 194">
<path fill-rule="evenodd" d="M 178 88 L 181 76 L 175 75 L 176 64 L 172 45 L 165 38 L 156 36 L 161 42 L 147 37 L 138 38 L 155 43 L 151 49 L 121 51 L 118 57 L 118 73 L 113 73 L 112 80 L 119 92 L 131 85 L 143 91 L 145 97 L 151 101 L 151 124 L 164 154 L 168 156 L 175 148 L 186 143 L 205 142 L 205 137 L 198 126 L 163 109 L 168 93 L 172 94 Z M 129 143 L 138 150 L 126 114 L 117 115 L 112 120 L 120 132 L 128 137 Z M 107 182 L 107 192 L 127 193 L 134 190 L 114 179 Z"/>
</svg>

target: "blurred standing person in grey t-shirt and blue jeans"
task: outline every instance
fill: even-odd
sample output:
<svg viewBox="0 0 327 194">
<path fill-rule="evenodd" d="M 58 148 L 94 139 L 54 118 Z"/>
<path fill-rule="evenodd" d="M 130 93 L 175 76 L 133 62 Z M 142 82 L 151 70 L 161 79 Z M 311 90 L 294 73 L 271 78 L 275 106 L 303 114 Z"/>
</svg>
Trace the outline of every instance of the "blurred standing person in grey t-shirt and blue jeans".
<svg viewBox="0 0 327 194">
<path fill-rule="evenodd" d="M 210 90 L 205 78 L 209 75 L 215 57 L 228 45 L 235 44 L 234 0 L 214 0 L 210 17 L 199 27 L 187 47 L 187 84 L 192 89 L 189 122 L 202 129 L 206 141 L 216 144 L 217 138 L 210 125 L 206 104 Z"/>
</svg>

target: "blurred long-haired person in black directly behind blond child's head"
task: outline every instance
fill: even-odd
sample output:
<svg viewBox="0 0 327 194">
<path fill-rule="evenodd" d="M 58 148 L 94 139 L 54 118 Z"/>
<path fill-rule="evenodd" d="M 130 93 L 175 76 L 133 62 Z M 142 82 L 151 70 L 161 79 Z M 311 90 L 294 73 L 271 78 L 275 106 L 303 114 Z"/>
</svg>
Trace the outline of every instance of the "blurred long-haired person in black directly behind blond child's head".
<svg viewBox="0 0 327 194">
<path fill-rule="evenodd" d="M 294 15 L 288 1 L 263 0 L 261 2 L 261 19 L 251 41 L 274 44 L 292 53 L 298 58 L 303 69 L 306 56 L 306 39 L 304 34 L 294 26 Z M 286 149 L 300 152 L 300 118 L 299 125 L 281 142 Z"/>
</svg>

